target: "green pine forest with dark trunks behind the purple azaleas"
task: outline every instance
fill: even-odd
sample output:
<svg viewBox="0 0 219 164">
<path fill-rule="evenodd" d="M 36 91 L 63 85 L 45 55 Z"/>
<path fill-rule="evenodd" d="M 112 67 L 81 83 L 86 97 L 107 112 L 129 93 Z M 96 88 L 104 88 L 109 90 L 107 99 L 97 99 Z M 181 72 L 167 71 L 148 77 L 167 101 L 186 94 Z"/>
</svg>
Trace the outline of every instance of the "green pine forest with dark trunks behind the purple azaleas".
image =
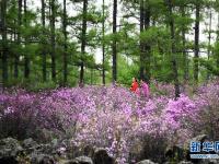
<svg viewBox="0 0 219 164">
<path fill-rule="evenodd" d="M 1 0 L 2 84 L 32 90 L 129 85 L 136 77 L 174 83 L 177 97 L 184 84 L 219 74 L 218 0 L 101 2 L 41 0 L 33 10 L 35 1 Z"/>
</svg>

